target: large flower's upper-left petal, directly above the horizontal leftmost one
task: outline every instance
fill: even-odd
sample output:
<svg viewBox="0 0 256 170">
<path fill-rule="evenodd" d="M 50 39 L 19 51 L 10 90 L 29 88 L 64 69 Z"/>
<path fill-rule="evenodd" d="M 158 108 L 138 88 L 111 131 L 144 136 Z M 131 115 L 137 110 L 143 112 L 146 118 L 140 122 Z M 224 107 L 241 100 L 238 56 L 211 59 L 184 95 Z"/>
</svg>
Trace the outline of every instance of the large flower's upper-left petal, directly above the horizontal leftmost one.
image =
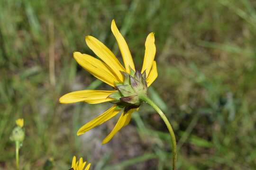
<svg viewBox="0 0 256 170">
<path fill-rule="evenodd" d="M 80 66 L 101 81 L 111 86 L 115 86 L 114 82 L 120 82 L 118 77 L 114 75 L 111 69 L 101 60 L 87 54 L 82 54 L 81 52 L 74 52 L 73 56 Z"/>
</svg>

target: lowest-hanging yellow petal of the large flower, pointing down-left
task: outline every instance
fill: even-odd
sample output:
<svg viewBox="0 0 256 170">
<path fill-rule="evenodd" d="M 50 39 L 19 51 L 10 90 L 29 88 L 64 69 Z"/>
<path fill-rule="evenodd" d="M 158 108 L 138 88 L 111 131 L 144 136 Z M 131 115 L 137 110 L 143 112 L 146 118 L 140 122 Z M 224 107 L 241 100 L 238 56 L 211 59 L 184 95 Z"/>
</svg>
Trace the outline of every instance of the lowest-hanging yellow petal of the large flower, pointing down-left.
<svg viewBox="0 0 256 170">
<path fill-rule="evenodd" d="M 113 128 L 113 130 L 110 132 L 110 134 L 102 141 L 102 144 L 106 144 L 110 141 L 110 139 L 123 127 L 126 125 L 126 123 L 129 121 L 131 113 L 134 111 L 134 109 L 128 110 L 128 112 L 122 112 L 121 116 L 118 119 L 117 124 Z"/>
</svg>

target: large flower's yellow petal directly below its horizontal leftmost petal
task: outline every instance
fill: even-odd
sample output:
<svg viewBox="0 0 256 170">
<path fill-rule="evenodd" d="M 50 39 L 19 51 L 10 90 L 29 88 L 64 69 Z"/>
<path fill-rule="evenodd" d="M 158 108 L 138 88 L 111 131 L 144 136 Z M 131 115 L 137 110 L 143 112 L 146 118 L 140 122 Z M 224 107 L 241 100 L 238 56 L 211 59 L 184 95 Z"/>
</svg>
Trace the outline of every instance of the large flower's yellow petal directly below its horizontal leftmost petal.
<svg viewBox="0 0 256 170">
<path fill-rule="evenodd" d="M 119 113 L 120 110 L 116 109 L 117 105 L 112 106 L 109 110 L 105 111 L 104 113 L 102 113 L 100 116 L 98 116 L 95 119 L 92 119 L 91 121 L 89 121 L 88 123 L 86 123 L 85 125 L 83 125 L 78 131 L 77 131 L 77 135 L 82 135 L 83 133 L 87 132 L 88 130 L 92 129 L 93 127 L 96 127 L 98 125 L 101 125 L 102 123 L 104 123 L 105 121 L 113 118 L 115 115 L 117 115 Z"/>
</svg>

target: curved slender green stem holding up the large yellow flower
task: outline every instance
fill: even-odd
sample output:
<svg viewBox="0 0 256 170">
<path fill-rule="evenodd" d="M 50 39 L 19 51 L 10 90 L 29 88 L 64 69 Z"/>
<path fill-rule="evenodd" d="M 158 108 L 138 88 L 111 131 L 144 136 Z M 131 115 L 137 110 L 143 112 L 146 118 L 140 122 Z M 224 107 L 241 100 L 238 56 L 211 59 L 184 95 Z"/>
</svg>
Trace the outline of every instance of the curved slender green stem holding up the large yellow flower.
<svg viewBox="0 0 256 170">
<path fill-rule="evenodd" d="M 166 118 L 164 112 L 152 101 L 150 100 L 146 95 L 140 96 L 140 99 L 147 102 L 149 105 L 151 105 L 155 111 L 160 115 L 160 117 L 164 120 L 165 125 L 167 126 L 169 133 L 171 135 L 171 140 L 172 140 L 172 148 L 173 148 L 173 170 L 176 170 L 176 160 L 177 160 L 177 153 L 176 153 L 176 139 L 174 135 L 174 130 Z"/>
</svg>

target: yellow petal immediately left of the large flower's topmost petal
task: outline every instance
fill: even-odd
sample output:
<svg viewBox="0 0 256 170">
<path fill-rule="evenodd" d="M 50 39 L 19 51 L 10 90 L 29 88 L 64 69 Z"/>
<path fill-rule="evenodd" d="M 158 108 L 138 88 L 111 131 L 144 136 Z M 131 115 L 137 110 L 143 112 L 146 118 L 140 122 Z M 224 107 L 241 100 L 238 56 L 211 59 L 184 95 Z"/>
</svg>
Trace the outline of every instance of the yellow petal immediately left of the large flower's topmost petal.
<svg viewBox="0 0 256 170">
<path fill-rule="evenodd" d="M 120 71 L 125 72 L 125 68 L 120 64 L 113 52 L 93 36 L 86 36 L 85 41 L 88 47 L 113 70 L 119 80 L 123 81 L 123 75 Z"/>
</svg>

